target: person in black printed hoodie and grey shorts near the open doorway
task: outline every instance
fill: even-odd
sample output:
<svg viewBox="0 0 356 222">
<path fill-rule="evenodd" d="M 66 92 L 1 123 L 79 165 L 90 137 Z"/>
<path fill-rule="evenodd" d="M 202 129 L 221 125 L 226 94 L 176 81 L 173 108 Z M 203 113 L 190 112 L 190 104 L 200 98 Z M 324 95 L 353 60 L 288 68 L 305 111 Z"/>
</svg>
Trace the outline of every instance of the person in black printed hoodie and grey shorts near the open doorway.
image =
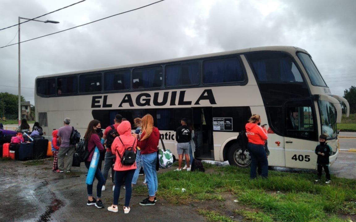
<svg viewBox="0 0 356 222">
<path fill-rule="evenodd" d="M 178 168 L 174 171 L 182 170 L 182 161 L 183 155 L 185 156 L 185 162 L 187 163 L 187 171 L 190 171 L 189 164 L 189 145 L 190 140 L 192 140 L 192 133 L 190 132 L 189 127 L 187 126 L 187 120 L 183 118 L 180 120 L 181 126 L 179 126 L 176 130 L 176 140 L 177 144 L 177 153 L 178 153 Z"/>
</svg>

